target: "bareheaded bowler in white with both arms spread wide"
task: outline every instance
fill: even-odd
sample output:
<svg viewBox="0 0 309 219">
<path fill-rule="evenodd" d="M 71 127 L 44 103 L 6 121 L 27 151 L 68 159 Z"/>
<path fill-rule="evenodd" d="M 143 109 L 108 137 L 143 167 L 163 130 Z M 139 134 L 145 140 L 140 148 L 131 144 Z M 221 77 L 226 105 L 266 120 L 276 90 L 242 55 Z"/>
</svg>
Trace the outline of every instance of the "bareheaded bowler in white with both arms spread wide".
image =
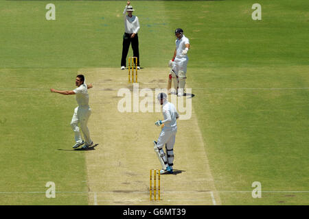
<svg viewBox="0 0 309 219">
<path fill-rule="evenodd" d="M 93 145 L 93 141 L 90 138 L 89 129 L 87 127 L 89 116 L 91 115 L 91 109 L 89 107 L 89 95 L 88 89 L 93 88 L 92 84 L 88 85 L 84 83 L 84 75 L 76 76 L 76 86 L 78 88 L 74 90 L 55 90 L 50 89 L 51 92 L 56 92 L 64 95 L 76 94 L 76 101 L 78 103 L 78 107 L 75 108 L 73 118 L 71 120 L 71 127 L 75 133 L 75 141 L 76 144 L 73 146 L 73 149 L 78 148 L 82 144 L 82 149 L 87 149 Z M 80 128 L 78 127 L 78 123 L 80 123 L 80 128 L 82 129 L 82 133 L 84 135 L 84 140 L 80 136 Z"/>
</svg>

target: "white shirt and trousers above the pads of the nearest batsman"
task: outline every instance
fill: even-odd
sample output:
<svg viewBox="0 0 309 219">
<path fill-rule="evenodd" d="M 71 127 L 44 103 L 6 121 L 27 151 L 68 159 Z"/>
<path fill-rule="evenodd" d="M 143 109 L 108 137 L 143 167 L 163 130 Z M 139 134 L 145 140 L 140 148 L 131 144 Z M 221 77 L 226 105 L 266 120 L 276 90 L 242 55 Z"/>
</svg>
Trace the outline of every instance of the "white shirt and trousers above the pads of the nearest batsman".
<svg viewBox="0 0 309 219">
<path fill-rule="evenodd" d="M 176 111 L 174 104 L 166 101 L 163 103 L 162 113 L 164 120 L 163 129 L 161 130 L 160 136 L 157 141 L 157 146 L 161 149 L 165 144 L 167 149 L 173 149 L 175 144 L 176 132 L 177 132 L 177 123 L 176 118 L 179 117 L 179 114 Z"/>
</svg>

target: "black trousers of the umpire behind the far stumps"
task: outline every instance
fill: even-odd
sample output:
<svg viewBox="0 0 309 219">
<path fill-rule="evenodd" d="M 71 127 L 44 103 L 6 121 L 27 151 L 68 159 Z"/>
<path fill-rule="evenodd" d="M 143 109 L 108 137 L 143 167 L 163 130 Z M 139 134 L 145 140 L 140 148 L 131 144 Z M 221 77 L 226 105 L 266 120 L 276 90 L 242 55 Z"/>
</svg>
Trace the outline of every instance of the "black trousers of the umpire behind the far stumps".
<svg viewBox="0 0 309 219">
<path fill-rule="evenodd" d="M 132 43 L 133 56 L 137 57 L 137 66 L 139 66 L 139 36 L 135 34 L 134 38 L 131 38 L 132 34 L 124 33 L 124 42 L 122 42 L 122 65 L 126 66 L 126 55 L 128 55 L 128 49 L 130 43 Z"/>
</svg>

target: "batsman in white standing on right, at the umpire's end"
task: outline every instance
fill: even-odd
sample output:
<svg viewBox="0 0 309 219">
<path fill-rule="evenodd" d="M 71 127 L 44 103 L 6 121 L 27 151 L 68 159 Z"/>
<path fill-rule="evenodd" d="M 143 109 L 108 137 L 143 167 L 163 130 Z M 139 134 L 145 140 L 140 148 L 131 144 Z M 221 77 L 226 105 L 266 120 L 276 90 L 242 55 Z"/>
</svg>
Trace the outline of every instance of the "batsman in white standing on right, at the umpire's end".
<svg viewBox="0 0 309 219">
<path fill-rule="evenodd" d="M 187 51 L 190 49 L 190 42 L 189 39 L 183 35 L 183 29 L 177 28 L 175 30 L 175 36 L 177 38 L 176 49 L 172 60 L 169 62 L 171 68 L 170 75 L 172 76 L 176 94 L 178 96 L 183 96 L 185 94 L 185 79 L 187 79 L 187 62 L 189 60 Z M 171 77 L 170 75 L 169 77 Z"/>
</svg>

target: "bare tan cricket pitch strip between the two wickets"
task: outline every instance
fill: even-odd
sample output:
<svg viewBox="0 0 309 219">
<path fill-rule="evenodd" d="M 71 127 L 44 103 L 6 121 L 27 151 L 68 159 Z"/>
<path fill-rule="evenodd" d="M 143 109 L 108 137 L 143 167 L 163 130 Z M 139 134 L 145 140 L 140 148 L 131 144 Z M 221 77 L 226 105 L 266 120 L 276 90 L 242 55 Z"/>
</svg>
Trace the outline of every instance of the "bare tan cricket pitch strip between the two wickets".
<svg viewBox="0 0 309 219">
<path fill-rule="evenodd" d="M 161 175 L 161 200 L 150 201 L 149 170 L 161 168 L 152 144 L 161 131 L 155 126 L 161 112 L 117 110 L 123 98 L 117 91 L 133 89 L 127 70 L 87 68 L 79 72 L 87 83 L 93 83 L 89 129 L 93 142 L 99 144 L 86 153 L 89 205 L 221 204 L 193 109 L 194 98 L 191 119 L 177 121 L 174 174 Z M 139 70 L 139 89 L 166 88 L 168 72 L 168 68 Z"/>
</svg>

